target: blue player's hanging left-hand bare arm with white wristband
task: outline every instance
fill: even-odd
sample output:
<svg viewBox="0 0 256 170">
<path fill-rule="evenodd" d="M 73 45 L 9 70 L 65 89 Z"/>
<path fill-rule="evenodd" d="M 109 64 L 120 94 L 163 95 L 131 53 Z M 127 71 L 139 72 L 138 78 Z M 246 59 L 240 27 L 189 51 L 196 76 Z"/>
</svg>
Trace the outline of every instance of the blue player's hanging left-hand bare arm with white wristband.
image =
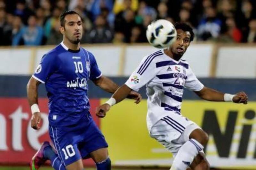
<svg viewBox="0 0 256 170">
<path fill-rule="evenodd" d="M 30 80 L 28 81 L 27 97 L 28 97 L 28 103 L 29 103 L 30 107 L 34 104 L 38 104 L 37 89 L 38 89 L 39 84 L 40 84 L 40 82 L 37 81 L 33 77 L 31 77 Z M 33 115 L 32 115 L 32 118 L 31 118 L 31 127 L 33 129 L 40 129 L 39 123 L 41 121 L 41 113 L 40 112 L 35 112 L 35 113 L 32 113 L 32 114 Z"/>
</svg>

